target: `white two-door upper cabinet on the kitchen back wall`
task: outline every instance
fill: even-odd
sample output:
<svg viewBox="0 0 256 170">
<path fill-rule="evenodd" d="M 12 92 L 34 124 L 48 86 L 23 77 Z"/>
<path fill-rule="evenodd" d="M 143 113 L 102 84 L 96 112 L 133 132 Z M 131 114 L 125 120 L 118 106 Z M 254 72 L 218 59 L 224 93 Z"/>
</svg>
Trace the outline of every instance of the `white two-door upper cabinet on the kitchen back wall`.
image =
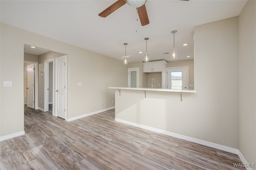
<svg viewBox="0 0 256 170">
<path fill-rule="evenodd" d="M 143 72 L 150 73 L 150 72 L 163 72 L 164 68 L 166 68 L 167 62 L 162 61 L 153 61 L 153 62 L 144 62 L 143 63 Z"/>
</svg>

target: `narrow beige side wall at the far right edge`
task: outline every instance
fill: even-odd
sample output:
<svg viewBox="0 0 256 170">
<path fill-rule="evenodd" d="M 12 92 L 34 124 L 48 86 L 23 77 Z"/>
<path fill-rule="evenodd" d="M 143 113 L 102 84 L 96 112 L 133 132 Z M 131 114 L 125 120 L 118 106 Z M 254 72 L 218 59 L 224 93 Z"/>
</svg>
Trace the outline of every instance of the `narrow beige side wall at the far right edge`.
<svg viewBox="0 0 256 170">
<path fill-rule="evenodd" d="M 249 0 L 239 16 L 239 150 L 248 163 L 256 163 L 255 0 Z"/>
</svg>

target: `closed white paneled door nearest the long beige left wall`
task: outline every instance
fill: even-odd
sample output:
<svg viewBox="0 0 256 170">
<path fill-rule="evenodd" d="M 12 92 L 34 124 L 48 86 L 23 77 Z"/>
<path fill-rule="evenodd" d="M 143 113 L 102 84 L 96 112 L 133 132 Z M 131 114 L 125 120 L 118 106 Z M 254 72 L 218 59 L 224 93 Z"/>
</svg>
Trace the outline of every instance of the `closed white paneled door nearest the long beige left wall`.
<svg viewBox="0 0 256 170">
<path fill-rule="evenodd" d="M 66 56 L 56 58 L 56 116 L 66 119 Z"/>
</svg>

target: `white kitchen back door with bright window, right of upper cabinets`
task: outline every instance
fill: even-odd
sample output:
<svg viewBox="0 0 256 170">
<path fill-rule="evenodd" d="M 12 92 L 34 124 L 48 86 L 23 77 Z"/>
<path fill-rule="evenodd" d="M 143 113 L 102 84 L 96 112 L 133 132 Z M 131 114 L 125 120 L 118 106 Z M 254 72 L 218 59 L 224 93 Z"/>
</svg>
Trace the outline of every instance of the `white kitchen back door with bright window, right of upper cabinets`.
<svg viewBox="0 0 256 170">
<path fill-rule="evenodd" d="M 167 68 L 167 88 L 174 90 L 188 89 L 188 68 Z"/>
</svg>

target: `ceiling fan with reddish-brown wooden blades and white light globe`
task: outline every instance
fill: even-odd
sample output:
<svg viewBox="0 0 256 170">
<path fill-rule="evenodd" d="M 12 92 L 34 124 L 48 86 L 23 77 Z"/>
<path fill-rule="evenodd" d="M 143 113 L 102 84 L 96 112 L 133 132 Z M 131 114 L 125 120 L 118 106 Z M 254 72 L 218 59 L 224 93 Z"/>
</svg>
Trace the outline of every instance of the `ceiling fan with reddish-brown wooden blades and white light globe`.
<svg viewBox="0 0 256 170">
<path fill-rule="evenodd" d="M 189 1 L 189 0 L 184 0 L 184 1 Z M 130 6 L 136 7 L 138 11 L 138 15 L 140 18 L 140 23 L 142 26 L 145 26 L 149 24 L 149 19 L 148 19 L 148 13 L 146 10 L 146 4 L 147 0 L 118 0 L 114 4 L 110 5 L 108 8 L 106 8 L 104 11 L 100 12 L 98 14 L 99 16 L 105 18 L 108 15 L 112 14 L 115 10 L 123 6 L 124 4 L 129 4 Z"/>
</svg>

